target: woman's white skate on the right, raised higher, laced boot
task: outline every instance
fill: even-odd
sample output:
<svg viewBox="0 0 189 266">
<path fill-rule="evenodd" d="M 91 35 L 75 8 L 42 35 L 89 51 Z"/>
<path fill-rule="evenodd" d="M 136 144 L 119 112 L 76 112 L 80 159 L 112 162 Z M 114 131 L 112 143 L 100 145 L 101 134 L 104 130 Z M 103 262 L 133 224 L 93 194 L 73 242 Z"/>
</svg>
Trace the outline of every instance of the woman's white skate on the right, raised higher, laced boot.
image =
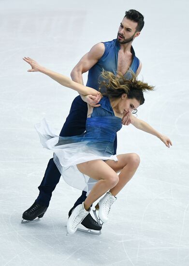
<svg viewBox="0 0 189 266">
<path fill-rule="evenodd" d="M 103 196 L 103 198 L 99 201 L 99 203 L 97 204 L 97 206 L 99 205 L 99 209 L 96 206 L 96 209 L 94 211 L 94 215 L 97 218 L 97 222 L 99 222 L 99 224 L 102 225 L 103 223 L 108 221 L 110 208 L 112 204 L 116 201 L 116 199 L 117 198 L 113 196 L 110 192 L 107 192 L 105 196 Z M 99 210 L 98 216 L 96 214 L 97 210 Z"/>
</svg>

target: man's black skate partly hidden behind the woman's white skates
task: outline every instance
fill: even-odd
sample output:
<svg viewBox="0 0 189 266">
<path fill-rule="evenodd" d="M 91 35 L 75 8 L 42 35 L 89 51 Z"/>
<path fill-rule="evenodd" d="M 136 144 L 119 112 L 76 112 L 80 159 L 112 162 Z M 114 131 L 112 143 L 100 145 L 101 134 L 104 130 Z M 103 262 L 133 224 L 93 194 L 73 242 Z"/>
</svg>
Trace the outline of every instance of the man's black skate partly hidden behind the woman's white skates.
<svg viewBox="0 0 189 266">
<path fill-rule="evenodd" d="M 74 207 L 72 207 L 71 210 L 69 211 L 68 217 L 70 217 L 73 210 L 74 210 Z M 102 229 L 102 226 L 99 225 L 99 223 L 96 222 L 89 213 L 87 214 L 85 219 L 81 222 L 81 224 L 77 228 L 77 231 L 99 236 L 101 235 L 101 229 Z"/>
</svg>

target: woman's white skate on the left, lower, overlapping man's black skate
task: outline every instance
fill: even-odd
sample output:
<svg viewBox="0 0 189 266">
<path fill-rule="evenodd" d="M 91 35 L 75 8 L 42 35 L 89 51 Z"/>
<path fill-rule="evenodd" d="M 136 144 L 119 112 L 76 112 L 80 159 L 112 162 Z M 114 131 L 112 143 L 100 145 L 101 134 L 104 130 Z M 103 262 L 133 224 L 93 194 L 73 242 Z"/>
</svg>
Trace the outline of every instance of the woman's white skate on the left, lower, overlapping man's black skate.
<svg viewBox="0 0 189 266">
<path fill-rule="evenodd" d="M 89 210 L 85 209 L 84 202 L 74 208 L 67 222 L 67 234 L 66 234 L 67 236 L 68 234 L 72 235 L 75 233 L 78 225 L 83 221 L 83 219 L 87 216 L 89 212 L 90 209 Z"/>
</svg>

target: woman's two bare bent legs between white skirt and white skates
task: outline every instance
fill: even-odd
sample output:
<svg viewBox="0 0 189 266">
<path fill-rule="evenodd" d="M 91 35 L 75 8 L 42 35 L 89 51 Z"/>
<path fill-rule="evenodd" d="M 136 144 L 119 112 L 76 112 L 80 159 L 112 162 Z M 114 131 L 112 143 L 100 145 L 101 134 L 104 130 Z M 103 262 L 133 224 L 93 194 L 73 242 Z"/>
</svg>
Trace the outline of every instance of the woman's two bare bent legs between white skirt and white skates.
<svg viewBox="0 0 189 266">
<path fill-rule="evenodd" d="M 113 196 L 116 196 L 133 177 L 140 163 L 140 158 L 136 153 L 120 154 L 117 155 L 117 159 L 118 162 L 94 160 L 77 164 L 81 173 L 99 180 L 85 200 L 86 210 L 109 190 Z M 120 172 L 119 176 L 116 172 Z"/>
</svg>

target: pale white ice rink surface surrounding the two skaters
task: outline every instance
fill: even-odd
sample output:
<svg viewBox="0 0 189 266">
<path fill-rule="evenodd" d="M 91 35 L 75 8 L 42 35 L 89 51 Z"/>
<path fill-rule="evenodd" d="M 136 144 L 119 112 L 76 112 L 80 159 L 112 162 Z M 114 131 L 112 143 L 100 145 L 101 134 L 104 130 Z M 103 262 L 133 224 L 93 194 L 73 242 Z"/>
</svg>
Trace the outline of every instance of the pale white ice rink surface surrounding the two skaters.
<svg viewBox="0 0 189 266">
<path fill-rule="evenodd" d="M 52 157 L 34 124 L 46 118 L 60 130 L 77 96 L 28 73 L 22 58 L 70 75 L 93 44 L 116 38 L 129 9 L 145 15 L 133 47 L 143 63 L 139 77 L 156 86 L 138 118 L 173 147 L 132 125 L 118 133 L 117 153 L 136 152 L 141 164 L 101 236 L 66 236 L 81 192 L 62 179 L 43 219 L 21 224 Z M 187 0 L 0 0 L 0 266 L 189 266 L 188 10 Z"/>
</svg>

